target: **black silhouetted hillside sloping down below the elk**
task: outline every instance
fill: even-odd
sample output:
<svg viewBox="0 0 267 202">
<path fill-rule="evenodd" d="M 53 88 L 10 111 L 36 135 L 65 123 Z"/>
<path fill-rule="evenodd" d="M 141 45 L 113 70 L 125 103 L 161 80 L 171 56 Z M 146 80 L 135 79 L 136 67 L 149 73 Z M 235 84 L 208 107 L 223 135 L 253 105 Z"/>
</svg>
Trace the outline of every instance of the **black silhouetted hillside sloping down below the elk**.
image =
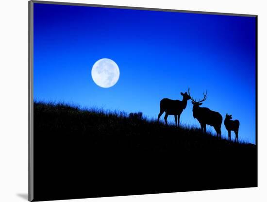
<svg viewBox="0 0 267 202">
<path fill-rule="evenodd" d="M 257 186 L 255 145 L 34 103 L 33 201 Z"/>
</svg>

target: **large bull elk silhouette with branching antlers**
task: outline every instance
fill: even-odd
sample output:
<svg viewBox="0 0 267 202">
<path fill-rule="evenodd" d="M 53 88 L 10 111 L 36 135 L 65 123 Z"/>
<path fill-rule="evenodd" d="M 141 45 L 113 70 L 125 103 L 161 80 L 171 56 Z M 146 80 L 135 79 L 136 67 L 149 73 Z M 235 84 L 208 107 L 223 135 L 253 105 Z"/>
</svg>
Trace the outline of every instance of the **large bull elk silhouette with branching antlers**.
<svg viewBox="0 0 267 202">
<path fill-rule="evenodd" d="M 190 96 L 190 92 L 188 90 L 188 94 Z M 194 100 L 191 98 L 193 104 L 193 117 L 197 118 L 200 122 L 201 131 L 202 133 L 206 133 L 206 125 L 213 126 L 217 136 L 221 137 L 221 123 L 222 123 L 222 116 L 220 113 L 210 110 L 207 107 L 200 107 L 203 101 L 207 99 L 207 91 L 204 94 L 204 98 L 200 101 Z M 191 96 L 190 96 L 191 97 Z"/>
</svg>

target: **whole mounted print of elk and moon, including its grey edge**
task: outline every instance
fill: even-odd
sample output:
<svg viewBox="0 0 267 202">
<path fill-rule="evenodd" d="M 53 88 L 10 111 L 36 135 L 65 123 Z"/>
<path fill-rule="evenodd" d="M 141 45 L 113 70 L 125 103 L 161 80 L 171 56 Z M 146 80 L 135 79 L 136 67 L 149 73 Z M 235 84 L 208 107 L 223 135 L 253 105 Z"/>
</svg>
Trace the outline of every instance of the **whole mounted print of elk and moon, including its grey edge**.
<svg viewBox="0 0 267 202">
<path fill-rule="evenodd" d="M 30 201 L 257 186 L 257 16 L 29 12 Z"/>
</svg>

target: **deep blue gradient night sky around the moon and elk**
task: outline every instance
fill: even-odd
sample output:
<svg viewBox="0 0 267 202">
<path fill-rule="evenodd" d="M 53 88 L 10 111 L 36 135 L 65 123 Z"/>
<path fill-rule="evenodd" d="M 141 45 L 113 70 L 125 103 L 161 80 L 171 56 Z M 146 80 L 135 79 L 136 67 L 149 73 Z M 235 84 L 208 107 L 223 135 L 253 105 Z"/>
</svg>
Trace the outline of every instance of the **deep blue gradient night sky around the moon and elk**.
<svg viewBox="0 0 267 202">
<path fill-rule="evenodd" d="M 202 106 L 232 114 L 239 138 L 255 143 L 255 17 L 41 3 L 33 15 L 35 100 L 156 118 L 161 99 L 182 100 L 190 86 L 194 98 L 207 90 Z M 119 67 L 111 88 L 92 80 L 101 58 Z M 192 107 L 188 102 L 181 122 L 199 126 Z"/>
</svg>

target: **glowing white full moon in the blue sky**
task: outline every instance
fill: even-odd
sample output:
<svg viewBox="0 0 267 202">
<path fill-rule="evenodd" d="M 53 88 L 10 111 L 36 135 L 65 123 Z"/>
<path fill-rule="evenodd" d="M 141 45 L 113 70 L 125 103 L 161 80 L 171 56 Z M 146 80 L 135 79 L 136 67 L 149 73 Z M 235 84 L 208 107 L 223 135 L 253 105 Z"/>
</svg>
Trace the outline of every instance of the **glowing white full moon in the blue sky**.
<svg viewBox="0 0 267 202">
<path fill-rule="evenodd" d="M 117 83 L 119 68 L 113 60 L 102 58 L 93 65 L 91 74 L 97 85 L 102 88 L 109 88 Z"/>
</svg>

